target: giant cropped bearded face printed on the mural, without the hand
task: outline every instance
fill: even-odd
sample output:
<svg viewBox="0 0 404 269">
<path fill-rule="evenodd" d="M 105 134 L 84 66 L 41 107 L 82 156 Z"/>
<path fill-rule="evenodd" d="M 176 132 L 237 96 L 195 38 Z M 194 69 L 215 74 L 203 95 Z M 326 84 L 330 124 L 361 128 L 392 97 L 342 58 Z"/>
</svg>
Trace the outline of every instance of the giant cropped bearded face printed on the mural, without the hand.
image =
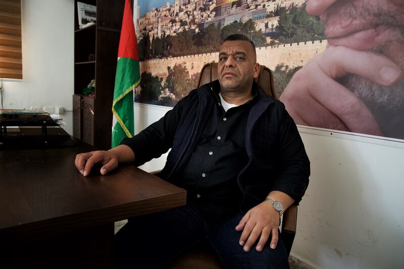
<svg viewBox="0 0 404 269">
<path fill-rule="evenodd" d="M 404 70 L 403 0 L 308 0 L 306 9 L 320 16 L 329 45 L 372 51 Z M 381 86 L 357 75 L 348 75 L 342 81 L 368 105 L 387 109 L 402 105 L 402 81 Z"/>
</svg>

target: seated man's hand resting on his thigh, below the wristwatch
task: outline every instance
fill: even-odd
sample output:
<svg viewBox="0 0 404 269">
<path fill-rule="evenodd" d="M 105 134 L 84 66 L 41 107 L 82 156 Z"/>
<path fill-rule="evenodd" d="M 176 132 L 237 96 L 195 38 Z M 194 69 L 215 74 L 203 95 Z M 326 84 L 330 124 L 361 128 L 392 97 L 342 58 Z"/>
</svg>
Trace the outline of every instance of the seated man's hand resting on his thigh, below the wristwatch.
<svg viewBox="0 0 404 269">
<path fill-rule="evenodd" d="M 244 246 L 244 251 L 248 252 L 258 238 L 260 240 L 256 250 L 263 250 L 269 236 L 272 236 L 270 247 L 275 249 L 278 243 L 279 220 L 279 212 L 267 202 L 252 207 L 236 226 L 237 231 L 243 230 L 239 243 Z"/>
</svg>

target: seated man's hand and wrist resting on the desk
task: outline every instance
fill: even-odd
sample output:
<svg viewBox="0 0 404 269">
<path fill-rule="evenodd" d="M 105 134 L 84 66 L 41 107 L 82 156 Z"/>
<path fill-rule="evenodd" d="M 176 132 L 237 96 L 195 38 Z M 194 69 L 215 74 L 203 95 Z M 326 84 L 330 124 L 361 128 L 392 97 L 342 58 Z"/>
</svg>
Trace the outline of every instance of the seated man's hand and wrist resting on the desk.
<svg viewBox="0 0 404 269">
<path fill-rule="evenodd" d="M 97 150 L 76 155 L 74 164 L 79 172 L 84 176 L 90 174 L 91 168 L 100 163 L 103 167 L 100 169 L 101 175 L 105 175 L 118 167 L 119 163 L 130 163 L 135 159 L 132 149 L 126 145 L 119 145 L 108 151 Z"/>
</svg>

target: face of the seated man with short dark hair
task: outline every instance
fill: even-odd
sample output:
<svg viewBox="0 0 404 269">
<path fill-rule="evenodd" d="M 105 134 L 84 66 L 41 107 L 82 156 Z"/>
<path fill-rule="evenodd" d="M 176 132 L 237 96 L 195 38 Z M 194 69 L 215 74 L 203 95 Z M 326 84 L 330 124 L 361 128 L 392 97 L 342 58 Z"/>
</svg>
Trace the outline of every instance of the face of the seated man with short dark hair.
<svg viewBox="0 0 404 269">
<path fill-rule="evenodd" d="M 222 91 L 242 93 L 251 90 L 258 77 L 255 48 L 248 41 L 226 41 L 220 47 L 218 78 Z"/>
</svg>

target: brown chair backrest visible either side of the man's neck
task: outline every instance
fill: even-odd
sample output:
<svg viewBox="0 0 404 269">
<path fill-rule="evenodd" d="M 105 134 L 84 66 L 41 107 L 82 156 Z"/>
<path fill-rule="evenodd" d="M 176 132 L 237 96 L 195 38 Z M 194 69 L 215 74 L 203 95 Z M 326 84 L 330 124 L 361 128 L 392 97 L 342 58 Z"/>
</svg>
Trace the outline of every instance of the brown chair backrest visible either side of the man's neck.
<svg viewBox="0 0 404 269">
<path fill-rule="evenodd" d="M 217 79 L 218 63 L 212 62 L 206 64 L 200 71 L 197 88 Z M 265 90 L 268 95 L 278 99 L 274 87 L 274 76 L 268 67 L 261 65 L 260 74 L 255 81 Z"/>
</svg>

